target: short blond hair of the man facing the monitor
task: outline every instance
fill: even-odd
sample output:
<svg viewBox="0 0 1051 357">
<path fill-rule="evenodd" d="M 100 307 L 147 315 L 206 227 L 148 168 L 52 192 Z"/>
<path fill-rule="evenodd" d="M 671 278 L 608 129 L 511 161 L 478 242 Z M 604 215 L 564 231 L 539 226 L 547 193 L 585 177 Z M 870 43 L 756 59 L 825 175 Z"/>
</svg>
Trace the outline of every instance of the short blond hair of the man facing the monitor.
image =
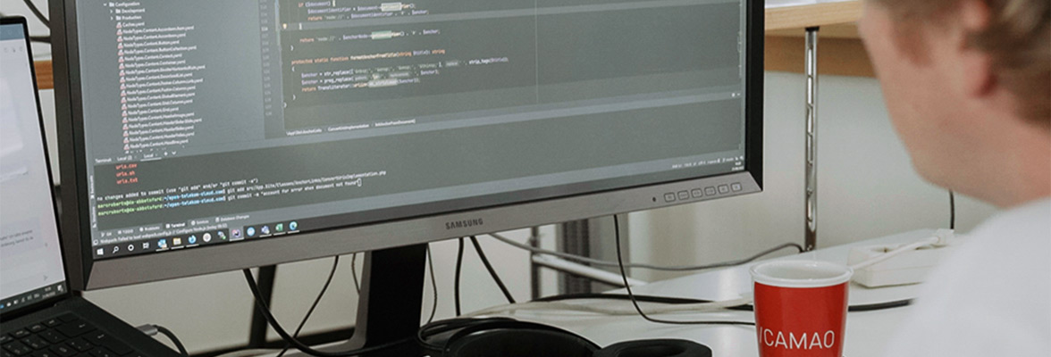
<svg viewBox="0 0 1051 357">
<path fill-rule="evenodd" d="M 952 14 L 962 0 L 871 0 L 898 21 L 931 21 Z M 989 7 L 989 26 L 970 34 L 968 45 L 992 59 L 998 83 L 1018 101 L 1017 113 L 1051 127 L 1051 1 L 978 0 Z"/>
</svg>

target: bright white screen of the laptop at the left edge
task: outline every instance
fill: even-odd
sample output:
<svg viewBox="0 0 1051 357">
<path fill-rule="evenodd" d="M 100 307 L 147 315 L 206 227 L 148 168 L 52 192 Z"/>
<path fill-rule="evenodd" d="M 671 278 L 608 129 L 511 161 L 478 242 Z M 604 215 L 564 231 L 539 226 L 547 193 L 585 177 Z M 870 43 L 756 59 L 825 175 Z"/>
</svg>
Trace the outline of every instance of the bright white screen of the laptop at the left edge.
<svg viewBox="0 0 1051 357">
<path fill-rule="evenodd" d="M 23 23 L 0 23 L 0 312 L 65 293 L 51 180 Z"/>
</svg>

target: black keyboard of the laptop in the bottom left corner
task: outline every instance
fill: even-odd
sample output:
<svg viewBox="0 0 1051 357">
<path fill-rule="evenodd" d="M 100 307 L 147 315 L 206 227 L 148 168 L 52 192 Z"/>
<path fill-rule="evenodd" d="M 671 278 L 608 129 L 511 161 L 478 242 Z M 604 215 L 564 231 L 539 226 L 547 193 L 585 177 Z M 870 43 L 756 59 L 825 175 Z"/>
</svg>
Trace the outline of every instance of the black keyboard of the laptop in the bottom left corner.
<svg viewBox="0 0 1051 357">
<path fill-rule="evenodd" d="M 0 357 L 142 357 L 130 346 L 73 314 L 0 335 Z"/>
</svg>

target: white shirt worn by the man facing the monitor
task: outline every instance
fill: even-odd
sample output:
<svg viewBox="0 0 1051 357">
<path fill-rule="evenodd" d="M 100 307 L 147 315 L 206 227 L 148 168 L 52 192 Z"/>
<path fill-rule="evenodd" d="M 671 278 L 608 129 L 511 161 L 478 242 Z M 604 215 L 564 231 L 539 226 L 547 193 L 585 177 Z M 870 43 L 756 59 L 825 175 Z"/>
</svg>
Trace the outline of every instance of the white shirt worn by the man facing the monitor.
<svg viewBox="0 0 1051 357">
<path fill-rule="evenodd" d="M 1051 356 L 1051 198 L 968 236 L 927 279 L 886 356 Z"/>
</svg>

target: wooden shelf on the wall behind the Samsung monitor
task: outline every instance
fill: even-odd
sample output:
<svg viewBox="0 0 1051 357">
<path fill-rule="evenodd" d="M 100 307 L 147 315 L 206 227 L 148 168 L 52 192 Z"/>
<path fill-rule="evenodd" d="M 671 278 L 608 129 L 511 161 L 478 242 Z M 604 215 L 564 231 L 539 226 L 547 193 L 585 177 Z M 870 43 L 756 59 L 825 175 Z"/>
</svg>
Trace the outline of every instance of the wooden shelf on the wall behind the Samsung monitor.
<svg viewBox="0 0 1051 357">
<path fill-rule="evenodd" d="M 803 72 L 804 28 L 822 26 L 818 44 L 819 71 L 828 75 L 872 76 L 858 27 L 861 0 L 766 9 L 766 70 Z M 51 61 L 37 61 L 37 85 L 55 88 Z"/>
</svg>

